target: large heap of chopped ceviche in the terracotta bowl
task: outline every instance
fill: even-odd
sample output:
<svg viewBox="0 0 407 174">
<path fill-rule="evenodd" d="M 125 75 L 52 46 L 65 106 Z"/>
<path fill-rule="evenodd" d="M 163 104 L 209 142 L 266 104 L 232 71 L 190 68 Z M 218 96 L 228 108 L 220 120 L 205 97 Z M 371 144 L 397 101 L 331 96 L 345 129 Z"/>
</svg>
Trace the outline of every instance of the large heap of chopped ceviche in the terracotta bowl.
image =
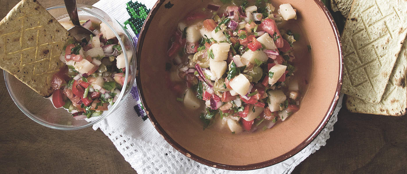
<svg viewBox="0 0 407 174">
<path fill-rule="evenodd" d="M 299 110 L 300 88 L 291 80 L 298 36 L 284 26 L 296 19 L 296 10 L 291 4 L 275 8 L 268 0 L 222 2 L 179 22 L 167 52 L 169 87 L 191 110 L 205 103 L 204 129 L 271 128 Z"/>
</svg>

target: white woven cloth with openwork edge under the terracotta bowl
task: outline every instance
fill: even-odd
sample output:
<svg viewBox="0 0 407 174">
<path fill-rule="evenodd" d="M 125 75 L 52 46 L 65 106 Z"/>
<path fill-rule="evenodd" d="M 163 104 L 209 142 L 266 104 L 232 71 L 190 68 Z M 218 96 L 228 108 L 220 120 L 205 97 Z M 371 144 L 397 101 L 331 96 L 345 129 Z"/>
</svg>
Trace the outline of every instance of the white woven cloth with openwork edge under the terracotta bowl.
<svg viewBox="0 0 407 174">
<path fill-rule="evenodd" d="M 102 9 L 123 24 L 129 18 L 125 9 L 128 1 L 101 0 L 93 6 Z M 139 0 L 139 2 L 146 5 L 149 9 L 155 4 L 154 0 Z M 133 32 L 131 34 L 133 34 L 133 37 L 135 36 Z M 131 95 L 127 97 L 122 106 L 111 116 L 93 126 L 94 130 L 101 129 L 112 140 L 117 150 L 139 174 L 287 174 L 291 173 L 295 166 L 306 159 L 306 157 L 314 153 L 321 146 L 325 146 L 329 133 L 333 131 L 333 125 L 337 121 L 342 96 L 326 127 L 300 153 L 267 168 L 239 172 L 212 168 L 179 153 L 161 137 L 149 120 L 144 121 L 142 119 L 145 116 L 144 112 L 141 112 L 142 116 L 136 113 L 134 108 L 139 103 L 136 86 L 134 86 Z"/>
</svg>

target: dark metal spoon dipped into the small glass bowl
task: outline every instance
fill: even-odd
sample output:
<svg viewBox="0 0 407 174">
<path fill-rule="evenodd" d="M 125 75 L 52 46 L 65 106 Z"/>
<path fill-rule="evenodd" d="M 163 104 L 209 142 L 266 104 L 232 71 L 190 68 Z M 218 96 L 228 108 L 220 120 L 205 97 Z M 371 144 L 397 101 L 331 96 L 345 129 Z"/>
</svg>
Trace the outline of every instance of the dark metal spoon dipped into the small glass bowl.
<svg viewBox="0 0 407 174">
<path fill-rule="evenodd" d="M 72 36 L 74 36 L 77 40 L 80 40 L 83 37 L 90 38 L 90 34 L 92 34 L 92 36 L 95 36 L 95 34 L 91 30 L 84 28 L 81 23 L 79 23 L 76 0 L 64 0 L 64 2 L 66 11 L 68 11 L 68 15 L 72 21 L 72 24 L 74 24 L 74 27 L 70 28 L 68 32 L 72 34 Z"/>
</svg>

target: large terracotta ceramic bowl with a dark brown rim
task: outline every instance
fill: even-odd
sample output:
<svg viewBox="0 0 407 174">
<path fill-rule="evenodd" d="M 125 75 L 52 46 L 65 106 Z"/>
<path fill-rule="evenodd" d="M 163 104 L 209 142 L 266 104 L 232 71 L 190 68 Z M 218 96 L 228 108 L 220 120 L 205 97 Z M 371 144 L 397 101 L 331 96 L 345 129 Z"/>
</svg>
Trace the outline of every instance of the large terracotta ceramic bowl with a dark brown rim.
<svg viewBox="0 0 407 174">
<path fill-rule="evenodd" d="M 302 41 L 312 46 L 309 86 L 300 110 L 272 129 L 232 134 L 202 129 L 197 112 L 184 109 L 166 88 L 165 58 L 168 41 L 179 19 L 202 5 L 201 0 L 159 0 L 147 17 L 137 47 L 137 83 L 142 104 L 157 131 L 179 152 L 200 163 L 227 170 L 267 167 L 300 152 L 321 132 L 339 99 L 342 54 L 335 23 L 319 0 L 273 0 L 291 3 Z M 207 2 L 206 2 L 207 3 Z M 168 7 L 168 6 L 167 6 Z M 178 18 L 179 17 L 179 18 Z"/>
</svg>

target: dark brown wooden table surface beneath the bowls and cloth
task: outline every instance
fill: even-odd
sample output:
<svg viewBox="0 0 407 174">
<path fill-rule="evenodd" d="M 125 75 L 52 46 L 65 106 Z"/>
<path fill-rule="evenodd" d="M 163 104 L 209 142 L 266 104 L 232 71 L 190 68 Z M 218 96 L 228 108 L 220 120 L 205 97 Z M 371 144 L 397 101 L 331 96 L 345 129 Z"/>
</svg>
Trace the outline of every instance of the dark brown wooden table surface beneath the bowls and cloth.
<svg viewBox="0 0 407 174">
<path fill-rule="evenodd" d="M 0 19 L 18 2 L 0 0 Z M 53 0 L 39 2 L 49 6 Z M 97 0 L 77 2 L 93 4 Z M 102 131 L 91 127 L 59 131 L 25 116 L 11 100 L 2 71 L 0 118 L 2 174 L 136 173 Z M 407 173 L 407 116 L 352 114 L 342 108 L 326 146 L 293 173 Z"/>
</svg>

